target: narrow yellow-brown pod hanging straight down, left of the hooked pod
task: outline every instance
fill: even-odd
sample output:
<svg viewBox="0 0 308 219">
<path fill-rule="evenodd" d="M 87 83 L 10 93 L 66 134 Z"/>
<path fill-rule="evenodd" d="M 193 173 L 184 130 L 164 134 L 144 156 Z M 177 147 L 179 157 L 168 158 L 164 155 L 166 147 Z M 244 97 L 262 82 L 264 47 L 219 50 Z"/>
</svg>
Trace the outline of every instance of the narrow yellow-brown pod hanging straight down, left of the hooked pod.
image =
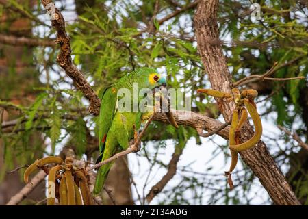
<svg viewBox="0 0 308 219">
<path fill-rule="evenodd" d="M 231 122 L 231 127 L 230 127 L 230 131 L 229 131 L 229 144 L 231 145 L 235 145 L 236 144 L 236 140 L 235 140 L 235 129 L 238 126 L 238 110 L 233 110 L 233 114 L 232 114 L 232 122 Z M 229 172 L 227 172 L 226 174 L 230 174 L 236 164 L 238 164 L 238 152 L 237 151 L 231 151 L 231 165 L 229 168 Z"/>
</svg>

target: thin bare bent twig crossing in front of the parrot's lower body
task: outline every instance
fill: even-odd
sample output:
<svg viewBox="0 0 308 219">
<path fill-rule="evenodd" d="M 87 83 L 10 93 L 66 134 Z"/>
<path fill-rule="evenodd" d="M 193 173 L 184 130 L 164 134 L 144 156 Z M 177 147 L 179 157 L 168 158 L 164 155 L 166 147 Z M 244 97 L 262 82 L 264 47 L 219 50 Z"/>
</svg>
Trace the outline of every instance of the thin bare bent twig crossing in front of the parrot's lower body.
<svg viewBox="0 0 308 219">
<path fill-rule="evenodd" d="M 103 166 L 105 164 L 108 164 L 116 159 L 118 159 L 119 157 L 123 157 L 125 155 L 128 155 L 129 153 L 136 153 L 140 150 L 139 148 L 139 144 L 141 142 L 141 138 L 142 136 L 144 135 L 144 132 L 146 131 L 146 129 L 149 127 L 150 123 L 152 122 L 153 118 L 154 118 L 154 115 L 153 114 L 149 120 L 147 121 L 146 125 L 144 126 L 144 129 L 141 131 L 141 133 L 139 134 L 136 142 L 134 142 L 133 144 L 131 144 L 131 146 L 129 146 L 125 151 L 122 151 L 120 153 L 116 153 L 115 155 L 113 155 L 112 157 L 108 158 L 108 159 L 105 159 L 103 160 L 102 162 L 99 162 L 97 164 L 95 164 L 94 166 L 91 166 L 90 168 L 88 168 L 88 172 L 90 172 L 91 170 L 94 170 L 96 168 L 99 168 L 100 166 Z"/>
</svg>

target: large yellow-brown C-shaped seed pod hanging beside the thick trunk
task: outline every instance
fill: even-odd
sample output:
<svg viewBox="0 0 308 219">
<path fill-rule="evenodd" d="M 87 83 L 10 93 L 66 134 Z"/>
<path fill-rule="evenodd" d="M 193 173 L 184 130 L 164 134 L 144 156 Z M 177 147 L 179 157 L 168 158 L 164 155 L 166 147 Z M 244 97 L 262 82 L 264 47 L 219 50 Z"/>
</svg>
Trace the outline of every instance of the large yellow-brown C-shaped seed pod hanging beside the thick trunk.
<svg viewBox="0 0 308 219">
<path fill-rule="evenodd" d="M 251 139 L 242 144 L 230 145 L 230 149 L 233 149 L 234 151 L 244 151 L 250 149 L 251 147 L 255 146 L 257 142 L 259 142 L 262 136 L 262 123 L 256 108 L 254 107 L 253 103 L 251 103 L 251 101 L 249 101 L 248 99 L 244 99 L 244 105 L 246 106 L 249 114 L 251 115 L 251 118 L 253 119 L 255 133 L 253 137 L 251 137 Z"/>
</svg>

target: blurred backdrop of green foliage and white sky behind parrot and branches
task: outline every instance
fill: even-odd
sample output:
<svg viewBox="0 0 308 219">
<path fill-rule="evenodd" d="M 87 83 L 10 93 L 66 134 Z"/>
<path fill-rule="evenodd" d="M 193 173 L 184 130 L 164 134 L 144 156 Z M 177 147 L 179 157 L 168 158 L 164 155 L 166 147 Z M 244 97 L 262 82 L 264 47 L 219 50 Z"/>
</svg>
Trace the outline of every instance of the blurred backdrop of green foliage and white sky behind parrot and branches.
<svg viewBox="0 0 308 219">
<path fill-rule="evenodd" d="M 55 1 L 55 6 L 66 21 L 73 62 L 97 94 L 126 73 L 151 66 L 166 75 L 168 86 L 192 98 L 192 111 L 224 122 L 214 99 L 196 93 L 197 88 L 210 88 L 194 34 L 197 2 L 68 0 Z M 252 3 L 261 5 L 259 21 L 251 18 Z M 278 64 L 272 77 L 306 77 L 243 86 L 259 92 L 261 140 L 306 205 L 307 5 L 306 0 L 221 0 L 218 11 L 233 81 L 264 74 L 274 62 Z M 25 185 L 25 168 L 10 172 L 18 167 L 47 155 L 63 156 L 68 149 L 88 162 L 98 157 L 98 117 L 88 114 L 88 101 L 58 66 L 55 38 L 40 1 L 0 0 L 1 205 Z M 191 127 L 175 130 L 151 123 L 142 149 L 112 167 L 103 203 L 147 204 L 146 195 L 175 164 L 174 175 L 151 205 L 270 205 L 266 190 L 242 162 L 233 173 L 235 188 L 229 190 L 224 171 L 230 162 L 228 142 L 220 136 L 200 138 Z M 21 204 L 45 205 L 44 183 Z"/>
</svg>

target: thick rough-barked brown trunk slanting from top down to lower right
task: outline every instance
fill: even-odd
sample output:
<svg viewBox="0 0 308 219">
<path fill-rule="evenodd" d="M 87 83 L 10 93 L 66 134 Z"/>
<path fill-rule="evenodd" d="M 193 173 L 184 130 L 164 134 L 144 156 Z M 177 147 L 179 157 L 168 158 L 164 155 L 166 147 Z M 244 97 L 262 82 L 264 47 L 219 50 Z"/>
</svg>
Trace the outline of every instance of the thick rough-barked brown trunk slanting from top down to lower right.
<svg viewBox="0 0 308 219">
<path fill-rule="evenodd" d="M 198 52 L 209 75 L 211 87 L 214 90 L 231 92 L 231 75 L 220 45 L 217 12 L 218 0 L 202 0 L 198 3 L 194 16 Z M 216 101 L 224 120 L 229 121 L 235 103 L 220 99 Z M 251 136 L 253 136 L 253 127 L 246 125 L 241 132 L 242 142 Z M 268 153 L 264 142 L 259 141 L 255 147 L 241 152 L 240 155 L 259 178 L 275 205 L 300 205 L 281 170 Z"/>
</svg>

